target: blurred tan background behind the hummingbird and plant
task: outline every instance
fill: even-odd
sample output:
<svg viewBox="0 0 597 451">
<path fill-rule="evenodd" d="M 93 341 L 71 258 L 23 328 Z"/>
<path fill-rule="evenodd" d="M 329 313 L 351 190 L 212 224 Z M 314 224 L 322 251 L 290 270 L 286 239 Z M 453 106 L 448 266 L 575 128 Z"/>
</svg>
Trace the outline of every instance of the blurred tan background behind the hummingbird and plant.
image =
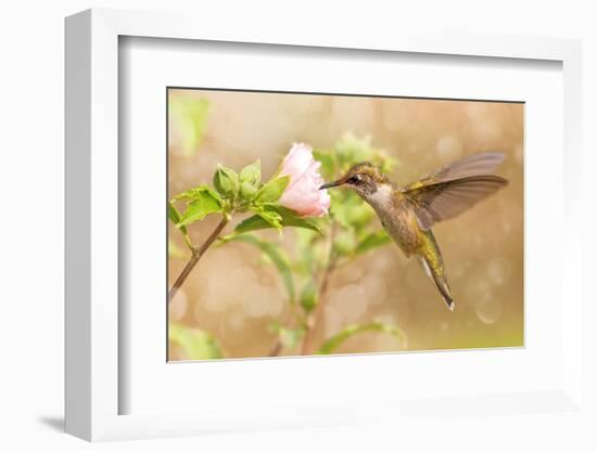
<svg viewBox="0 0 597 451">
<path fill-rule="evenodd" d="M 497 175 L 509 185 L 434 227 L 454 312 L 418 261 L 390 244 L 330 274 L 314 340 L 381 322 L 399 328 L 399 339 L 369 331 L 343 340 L 334 353 L 522 346 L 523 114 L 520 103 L 170 89 L 168 195 L 211 184 L 218 163 L 240 170 L 261 159 L 268 180 L 293 142 L 333 152 L 339 140 L 354 140 L 382 150 L 395 160 L 390 178 L 398 184 L 466 155 L 504 152 Z M 208 216 L 190 226 L 193 243 L 202 243 L 218 221 Z M 289 252 L 301 240 L 292 229 L 282 237 L 276 231 L 259 236 Z M 188 257 L 170 223 L 169 285 Z M 277 269 L 262 252 L 244 243 L 214 246 L 169 305 L 169 360 L 269 356 L 282 332 L 284 347 L 277 355 L 301 353 L 294 343 L 300 337 L 293 342 L 284 328 L 291 309 Z M 195 353 L 193 344 L 211 347 Z"/>
</svg>

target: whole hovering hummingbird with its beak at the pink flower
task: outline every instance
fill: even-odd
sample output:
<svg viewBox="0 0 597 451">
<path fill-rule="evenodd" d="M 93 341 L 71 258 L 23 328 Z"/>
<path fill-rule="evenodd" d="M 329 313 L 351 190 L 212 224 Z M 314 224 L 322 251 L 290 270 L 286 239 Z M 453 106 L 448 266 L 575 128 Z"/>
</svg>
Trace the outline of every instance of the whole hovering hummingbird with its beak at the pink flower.
<svg viewBox="0 0 597 451">
<path fill-rule="evenodd" d="M 454 311 L 455 302 L 432 227 L 455 218 L 506 186 L 506 179 L 493 175 L 504 157 L 499 152 L 473 154 L 405 186 L 398 186 L 379 167 L 364 162 L 319 189 L 346 185 L 373 207 L 388 234 L 406 257 L 417 257 L 447 308 Z"/>
</svg>

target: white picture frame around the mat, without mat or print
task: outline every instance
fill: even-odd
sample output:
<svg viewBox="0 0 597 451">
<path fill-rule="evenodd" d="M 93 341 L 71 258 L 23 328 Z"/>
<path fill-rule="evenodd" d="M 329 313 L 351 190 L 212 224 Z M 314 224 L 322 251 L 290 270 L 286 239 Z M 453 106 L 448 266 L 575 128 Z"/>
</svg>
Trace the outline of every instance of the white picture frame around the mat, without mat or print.
<svg viewBox="0 0 597 451">
<path fill-rule="evenodd" d="M 172 437 L 214 431 L 268 430 L 321 427 L 371 422 L 392 423 L 406 415 L 420 417 L 433 411 L 456 415 L 466 422 L 478 413 L 521 415 L 548 412 L 562 416 L 585 415 L 582 392 L 583 293 L 582 229 L 573 181 L 581 175 L 581 46 L 575 40 L 505 36 L 414 35 L 392 37 L 370 34 L 355 37 L 339 28 L 333 36 L 297 24 L 277 26 L 264 21 L 239 21 L 221 29 L 217 22 L 196 27 L 192 15 L 90 10 L 66 20 L 66 431 L 87 440 Z M 563 198 L 561 231 L 561 286 L 566 293 L 561 312 L 561 377 L 541 391 L 511 394 L 479 392 L 433 399 L 359 399 L 363 409 L 347 410 L 305 399 L 292 411 L 271 412 L 240 403 L 231 411 L 220 409 L 193 413 L 122 414 L 119 397 L 130 389 L 119 377 L 119 336 L 126 334 L 118 321 L 119 185 L 118 170 L 118 56 L 119 37 L 151 37 L 246 44 L 302 46 L 328 49 L 360 49 L 376 52 L 468 55 L 492 59 L 548 60 L 560 62 L 563 73 Z M 559 210 L 558 210 L 559 211 Z M 574 231 L 572 233 L 572 231 Z M 322 359 L 322 358 L 318 358 Z M 313 359 L 303 360 L 313 365 Z M 323 360 L 319 360 L 322 362 Z M 333 365 L 333 358 L 328 358 Z M 247 365 L 247 362 L 237 362 Z M 319 363 L 321 364 L 321 363 Z M 355 361 L 355 365 L 359 364 Z M 242 370 L 242 369 L 241 369 Z M 310 370 L 316 370 L 312 366 Z M 179 370 L 185 371 L 185 370 Z M 262 370 L 266 371 L 265 366 Z M 305 370 L 308 371 L 308 370 Z M 232 403 L 233 405 L 233 403 Z M 545 409 L 545 410 L 542 410 Z M 371 412 L 377 412 L 371 414 Z M 408 412 L 408 413 L 407 413 Z M 569 416 L 568 416 L 569 417 Z"/>
</svg>

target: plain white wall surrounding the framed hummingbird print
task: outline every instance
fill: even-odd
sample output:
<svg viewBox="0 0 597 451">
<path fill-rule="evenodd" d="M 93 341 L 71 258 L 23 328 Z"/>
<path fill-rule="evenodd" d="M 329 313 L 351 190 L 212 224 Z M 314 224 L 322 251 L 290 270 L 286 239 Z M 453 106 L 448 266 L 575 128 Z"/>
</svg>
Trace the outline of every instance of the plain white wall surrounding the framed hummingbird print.
<svg viewBox="0 0 597 451">
<path fill-rule="evenodd" d="M 468 29 L 480 33 L 556 36 L 583 39 L 584 51 L 584 143 L 585 181 L 590 181 L 596 166 L 597 147 L 592 128 L 597 124 L 597 15 L 590 1 L 361 1 L 322 0 L 250 2 L 97 0 L 94 2 L 4 1 L 0 11 L 0 183 L 2 222 L 0 249 L 2 270 L 0 291 L 0 337 L 2 365 L 0 371 L 0 443 L 2 449 L 35 449 L 36 444 L 51 449 L 86 447 L 58 431 L 62 422 L 63 365 L 63 17 L 90 8 L 126 8 L 145 10 L 194 11 L 206 17 L 243 14 L 278 16 L 285 22 L 312 26 L 334 22 L 354 22 L 355 33 L 367 27 L 389 30 L 417 24 L 422 29 Z M 555 4 L 554 4 L 555 3 Z M 341 5 L 341 7 L 340 7 Z M 215 20 L 215 18 L 207 18 Z M 358 26 L 356 26 L 358 24 Z M 201 26 L 201 24 L 198 24 Z M 226 26 L 226 21 L 223 21 Z M 333 28 L 330 28 L 333 33 Z M 585 204 L 589 205 L 586 183 Z M 595 210 L 595 202 L 589 208 Z M 588 208 L 587 208 L 588 209 Z M 595 215 L 587 215 L 586 245 L 595 253 Z M 588 263 L 588 247 L 585 262 Z M 588 283 L 586 284 L 588 287 Z M 595 307 L 585 317 L 596 318 Z M 588 325 L 588 322 L 587 322 Z M 587 331 L 596 343 L 596 334 Z M 593 368 L 593 370 L 595 370 Z M 595 381 L 595 371 L 592 373 Z M 593 389 L 593 388 L 592 388 Z M 592 392 L 593 396 L 595 391 Z M 595 399 L 595 398 L 594 398 Z M 595 405 L 595 402 L 593 403 Z M 561 448 L 588 449 L 582 435 L 564 434 L 566 429 L 545 418 L 545 434 L 525 436 L 516 422 L 499 420 L 479 423 L 487 430 L 483 449 L 504 449 L 509 444 L 523 449 Z M 487 423 L 487 424 L 486 424 Z M 586 426 L 586 425 L 585 425 Z M 584 427 L 579 425 L 579 429 Z M 460 449 L 472 436 L 459 434 L 446 425 L 445 430 L 429 430 L 429 435 L 445 434 L 445 449 Z M 594 439 L 593 439 L 594 440 Z M 424 448 L 427 434 L 407 449 Z M 9 444 L 12 443 L 12 444 Z M 179 439 L 107 444 L 109 449 L 350 449 L 390 444 L 401 448 L 401 430 L 368 426 L 350 430 L 317 430 L 301 433 L 256 434 L 249 436 Z M 517 446 L 518 443 L 518 446 Z M 469 446 L 472 443 L 468 443 Z M 593 443 L 595 446 L 595 443 Z"/>
</svg>

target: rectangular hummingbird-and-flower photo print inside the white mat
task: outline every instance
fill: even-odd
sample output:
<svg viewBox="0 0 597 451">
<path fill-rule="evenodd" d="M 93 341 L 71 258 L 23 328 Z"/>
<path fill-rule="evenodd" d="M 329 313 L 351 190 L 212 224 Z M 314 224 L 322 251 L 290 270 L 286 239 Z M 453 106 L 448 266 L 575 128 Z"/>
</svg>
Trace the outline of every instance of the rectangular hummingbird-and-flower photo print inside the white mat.
<svg viewBox="0 0 597 451">
<path fill-rule="evenodd" d="M 523 345 L 523 103 L 167 102 L 168 361 Z"/>
</svg>

